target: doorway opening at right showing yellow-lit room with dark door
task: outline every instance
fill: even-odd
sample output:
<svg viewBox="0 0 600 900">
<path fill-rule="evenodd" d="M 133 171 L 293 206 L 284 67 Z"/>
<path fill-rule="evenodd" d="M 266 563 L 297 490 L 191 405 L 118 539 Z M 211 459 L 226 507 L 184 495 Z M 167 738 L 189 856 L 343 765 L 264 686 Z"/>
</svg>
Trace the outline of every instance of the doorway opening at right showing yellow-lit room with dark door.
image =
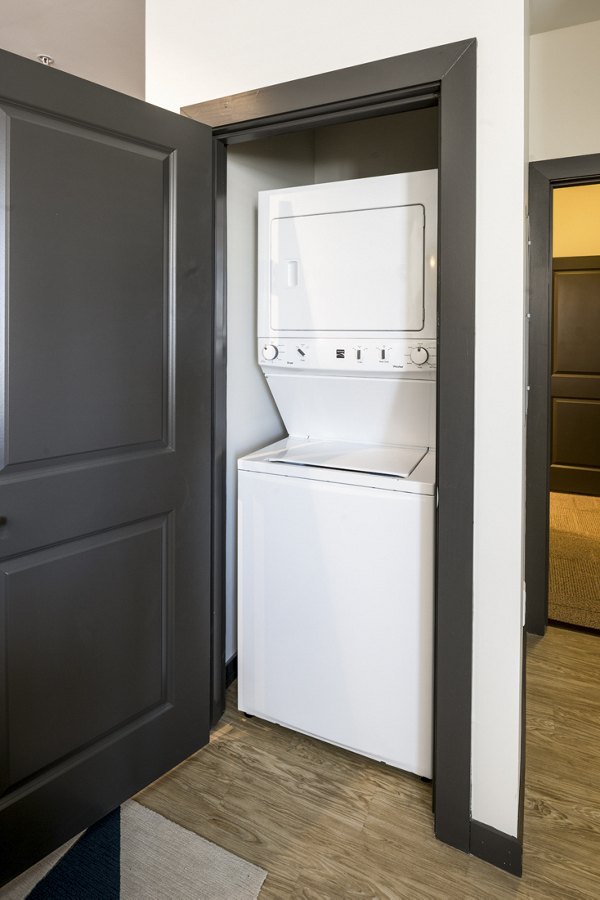
<svg viewBox="0 0 600 900">
<path fill-rule="evenodd" d="M 600 631 L 600 184 L 555 188 L 548 619 Z"/>
</svg>

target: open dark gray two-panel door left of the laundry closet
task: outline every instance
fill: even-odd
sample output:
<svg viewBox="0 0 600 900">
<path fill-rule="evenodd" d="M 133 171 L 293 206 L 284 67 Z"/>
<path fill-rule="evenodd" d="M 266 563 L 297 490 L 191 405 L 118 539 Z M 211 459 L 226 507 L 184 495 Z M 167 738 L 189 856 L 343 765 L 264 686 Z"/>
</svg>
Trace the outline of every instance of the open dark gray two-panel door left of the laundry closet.
<svg viewBox="0 0 600 900">
<path fill-rule="evenodd" d="M 0 883 L 208 739 L 209 128 L 0 53 Z"/>
</svg>

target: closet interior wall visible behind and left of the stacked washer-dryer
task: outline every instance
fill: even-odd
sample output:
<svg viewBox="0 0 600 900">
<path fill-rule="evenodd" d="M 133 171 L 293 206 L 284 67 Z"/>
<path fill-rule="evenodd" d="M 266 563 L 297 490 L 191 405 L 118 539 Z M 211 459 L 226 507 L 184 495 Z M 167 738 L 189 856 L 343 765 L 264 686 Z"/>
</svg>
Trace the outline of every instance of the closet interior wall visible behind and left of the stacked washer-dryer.
<svg viewBox="0 0 600 900">
<path fill-rule="evenodd" d="M 237 460 L 286 434 L 256 358 L 257 194 L 437 165 L 435 107 L 227 148 L 226 661 L 237 651 Z"/>
</svg>

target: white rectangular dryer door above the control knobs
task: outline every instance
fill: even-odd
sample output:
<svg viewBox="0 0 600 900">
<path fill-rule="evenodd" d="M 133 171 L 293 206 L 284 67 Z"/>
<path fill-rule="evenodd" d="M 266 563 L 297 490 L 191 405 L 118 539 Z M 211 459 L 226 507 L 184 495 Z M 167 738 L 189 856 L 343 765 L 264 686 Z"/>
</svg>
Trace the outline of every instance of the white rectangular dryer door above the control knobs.
<svg viewBox="0 0 600 900">
<path fill-rule="evenodd" d="M 272 219 L 271 329 L 420 331 L 424 224 L 421 204 Z"/>
</svg>

